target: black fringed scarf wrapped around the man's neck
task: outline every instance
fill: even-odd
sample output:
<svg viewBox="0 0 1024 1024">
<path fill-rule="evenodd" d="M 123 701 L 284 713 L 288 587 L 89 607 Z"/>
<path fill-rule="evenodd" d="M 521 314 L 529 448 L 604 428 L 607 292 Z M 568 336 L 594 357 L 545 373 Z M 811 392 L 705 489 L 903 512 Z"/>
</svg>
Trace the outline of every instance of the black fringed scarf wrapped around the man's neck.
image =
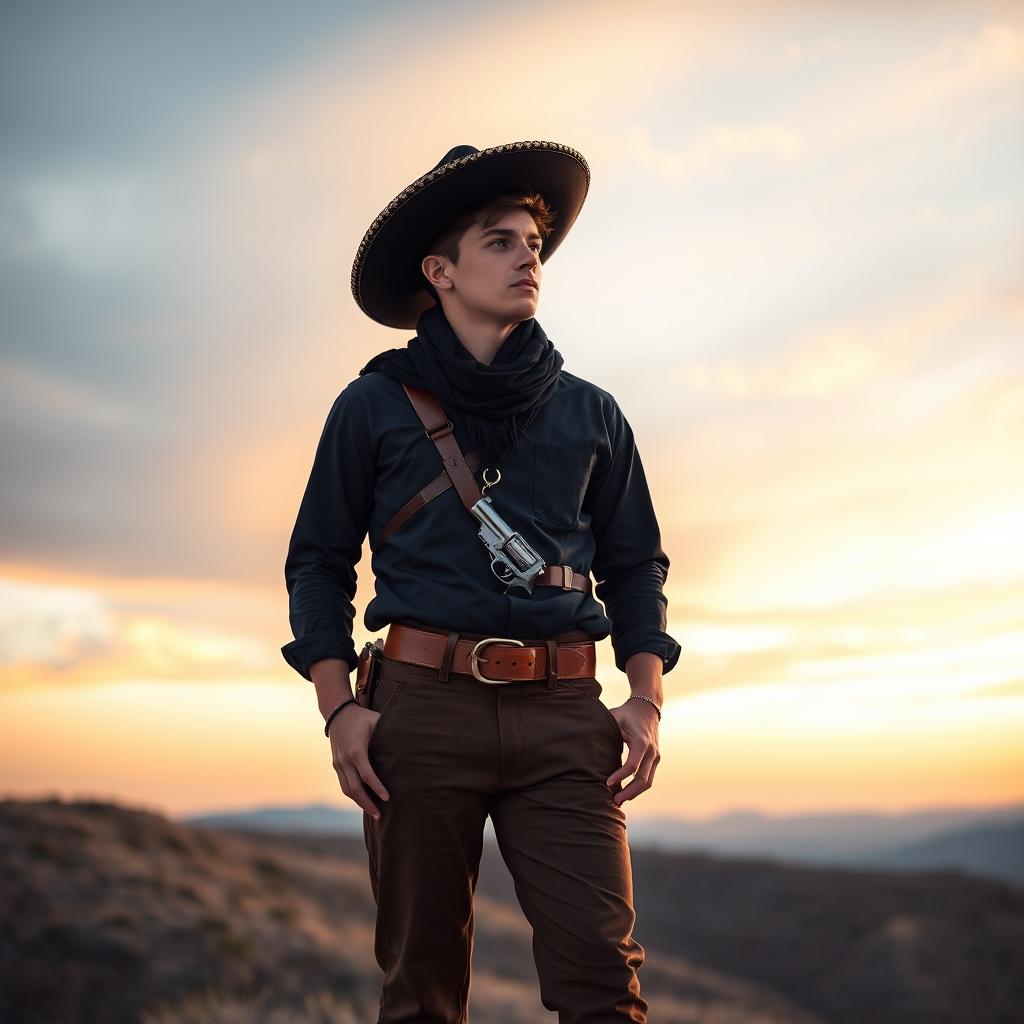
<svg viewBox="0 0 1024 1024">
<path fill-rule="evenodd" d="M 429 306 L 406 348 L 375 355 L 359 376 L 380 370 L 431 392 L 452 416 L 461 413 L 481 466 L 495 465 L 519 443 L 554 394 L 562 356 L 537 318 L 521 321 L 488 365 L 459 340 L 440 304 Z"/>
</svg>

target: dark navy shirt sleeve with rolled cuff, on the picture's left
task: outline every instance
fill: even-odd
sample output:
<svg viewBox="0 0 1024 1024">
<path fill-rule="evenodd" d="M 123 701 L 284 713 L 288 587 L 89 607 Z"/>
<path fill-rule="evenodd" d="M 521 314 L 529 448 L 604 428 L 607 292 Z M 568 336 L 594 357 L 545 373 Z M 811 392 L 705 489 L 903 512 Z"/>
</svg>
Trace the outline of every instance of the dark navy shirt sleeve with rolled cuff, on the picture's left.
<svg viewBox="0 0 1024 1024">
<path fill-rule="evenodd" d="M 375 456 L 366 403 L 349 384 L 328 414 L 285 559 L 295 639 L 281 652 L 311 681 L 325 657 L 356 666 L 355 565 L 373 509 Z"/>
</svg>

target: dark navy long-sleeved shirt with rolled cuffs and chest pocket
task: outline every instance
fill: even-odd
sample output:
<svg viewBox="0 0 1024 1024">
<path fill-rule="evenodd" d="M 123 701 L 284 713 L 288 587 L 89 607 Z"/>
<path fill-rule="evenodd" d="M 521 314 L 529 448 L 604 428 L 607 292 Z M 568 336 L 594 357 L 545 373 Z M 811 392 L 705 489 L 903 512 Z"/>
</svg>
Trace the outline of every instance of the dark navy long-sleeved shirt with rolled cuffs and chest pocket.
<svg viewBox="0 0 1024 1024">
<path fill-rule="evenodd" d="M 465 424 L 449 412 L 468 454 Z M 498 468 L 501 480 L 486 493 L 496 510 L 547 564 L 592 573 L 596 599 L 544 586 L 506 594 L 455 487 L 382 543 L 391 516 L 443 467 L 399 381 L 371 372 L 348 384 L 328 415 L 289 543 L 288 664 L 306 679 L 319 658 L 355 668 L 352 601 L 369 532 L 376 594 L 364 625 L 375 635 L 393 622 L 516 640 L 580 629 L 595 640 L 611 636 L 620 671 L 637 651 L 659 655 L 663 672 L 673 669 L 680 645 L 665 632 L 669 558 L 615 399 L 563 368 L 555 393 Z"/>
</svg>

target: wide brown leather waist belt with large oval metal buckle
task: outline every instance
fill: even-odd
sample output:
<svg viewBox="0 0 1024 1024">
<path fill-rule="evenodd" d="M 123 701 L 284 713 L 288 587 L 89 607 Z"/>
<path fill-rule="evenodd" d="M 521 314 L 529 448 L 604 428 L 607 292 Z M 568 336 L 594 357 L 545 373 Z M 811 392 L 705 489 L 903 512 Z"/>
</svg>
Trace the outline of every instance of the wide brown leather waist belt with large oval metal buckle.
<svg viewBox="0 0 1024 1024">
<path fill-rule="evenodd" d="M 437 669 L 442 681 L 452 672 L 481 683 L 518 683 L 547 679 L 553 689 L 559 679 L 588 679 L 597 672 L 597 648 L 587 633 L 571 630 L 550 640 L 527 643 L 479 633 L 428 630 L 392 623 L 384 654 L 396 662 Z M 487 667 L 488 676 L 481 672 Z"/>
</svg>

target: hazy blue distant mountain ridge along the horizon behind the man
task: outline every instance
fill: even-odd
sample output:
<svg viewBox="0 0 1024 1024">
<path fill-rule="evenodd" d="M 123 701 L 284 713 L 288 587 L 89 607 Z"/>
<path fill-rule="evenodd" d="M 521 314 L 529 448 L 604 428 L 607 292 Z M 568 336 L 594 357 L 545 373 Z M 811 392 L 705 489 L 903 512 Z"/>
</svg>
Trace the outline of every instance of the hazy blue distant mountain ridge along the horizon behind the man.
<svg viewBox="0 0 1024 1024">
<path fill-rule="evenodd" d="M 180 820 L 213 827 L 362 835 L 360 811 L 328 804 L 257 807 Z M 489 822 L 487 828 L 493 837 Z M 631 816 L 629 833 L 634 849 L 775 857 L 817 866 L 947 867 L 1024 886 L 1024 804 L 905 814 L 768 816 L 758 811 L 732 811 L 698 821 Z"/>
</svg>

